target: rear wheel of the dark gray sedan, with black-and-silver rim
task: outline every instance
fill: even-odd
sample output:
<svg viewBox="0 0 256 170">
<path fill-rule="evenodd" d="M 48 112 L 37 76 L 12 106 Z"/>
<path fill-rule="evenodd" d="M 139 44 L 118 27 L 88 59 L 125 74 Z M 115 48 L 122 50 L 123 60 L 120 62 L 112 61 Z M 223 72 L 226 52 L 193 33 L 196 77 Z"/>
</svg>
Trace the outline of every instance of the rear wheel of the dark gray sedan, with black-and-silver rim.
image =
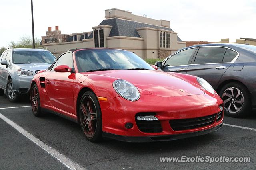
<svg viewBox="0 0 256 170">
<path fill-rule="evenodd" d="M 243 84 L 238 82 L 228 83 L 221 88 L 219 94 L 224 101 L 224 113 L 226 115 L 230 117 L 244 117 L 251 112 L 250 93 Z"/>
</svg>

